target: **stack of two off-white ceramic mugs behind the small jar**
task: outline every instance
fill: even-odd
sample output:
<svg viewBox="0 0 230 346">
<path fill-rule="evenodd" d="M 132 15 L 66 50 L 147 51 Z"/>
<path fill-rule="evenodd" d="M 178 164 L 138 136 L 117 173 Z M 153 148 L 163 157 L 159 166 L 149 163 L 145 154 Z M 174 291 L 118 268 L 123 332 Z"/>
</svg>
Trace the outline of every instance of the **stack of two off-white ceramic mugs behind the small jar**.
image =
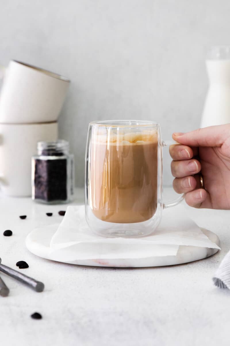
<svg viewBox="0 0 230 346">
<path fill-rule="evenodd" d="M 70 80 L 15 60 L 2 75 L 0 190 L 9 196 L 30 196 L 31 157 L 37 142 L 58 139 L 58 116 Z"/>
</svg>

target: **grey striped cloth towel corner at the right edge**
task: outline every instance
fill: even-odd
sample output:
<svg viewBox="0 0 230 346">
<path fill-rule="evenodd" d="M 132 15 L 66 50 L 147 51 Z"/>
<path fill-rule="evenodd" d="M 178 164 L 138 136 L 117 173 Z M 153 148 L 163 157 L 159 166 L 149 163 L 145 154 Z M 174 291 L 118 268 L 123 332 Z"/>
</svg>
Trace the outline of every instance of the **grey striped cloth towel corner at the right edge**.
<svg viewBox="0 0 230 346">
<path fill-rule="evenodd" d="M 230 290 L 230 251 L 224 256 L 212 280 L 217 287 Z"/>
</svg>

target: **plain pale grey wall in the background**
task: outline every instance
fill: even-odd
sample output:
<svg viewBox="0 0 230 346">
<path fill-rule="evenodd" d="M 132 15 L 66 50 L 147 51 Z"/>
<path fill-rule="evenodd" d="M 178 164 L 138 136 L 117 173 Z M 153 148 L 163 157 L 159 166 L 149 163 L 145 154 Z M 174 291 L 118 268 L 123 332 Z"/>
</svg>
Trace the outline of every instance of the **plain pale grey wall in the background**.
<svg viewBox="0 0 230 346">
<path fill-rule="evenodd" d="M 59 129 L 81 186 L 90 120 L 155 120 L 167 139 L 199 127 L 205 52 L 229 44 L 229 17 L 229 0 L 0 0 L 0 64 L 71 79 Z"/>
</svg>

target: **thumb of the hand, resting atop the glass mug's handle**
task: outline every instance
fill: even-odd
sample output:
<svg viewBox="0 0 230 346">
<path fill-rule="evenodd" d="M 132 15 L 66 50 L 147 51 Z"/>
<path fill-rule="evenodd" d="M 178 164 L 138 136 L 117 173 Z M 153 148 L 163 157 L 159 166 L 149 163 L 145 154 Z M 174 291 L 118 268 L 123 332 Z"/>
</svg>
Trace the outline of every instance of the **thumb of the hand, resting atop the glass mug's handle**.
<svg viewBox="0 0 230 346">
<path fill-rule="evenodd" d="M 230 124 L 209 126 L 187 133 L 173 133 L 172 138 L 180 144 L 193 147 L 221 147 L 229 137 Z"/>
</svg>

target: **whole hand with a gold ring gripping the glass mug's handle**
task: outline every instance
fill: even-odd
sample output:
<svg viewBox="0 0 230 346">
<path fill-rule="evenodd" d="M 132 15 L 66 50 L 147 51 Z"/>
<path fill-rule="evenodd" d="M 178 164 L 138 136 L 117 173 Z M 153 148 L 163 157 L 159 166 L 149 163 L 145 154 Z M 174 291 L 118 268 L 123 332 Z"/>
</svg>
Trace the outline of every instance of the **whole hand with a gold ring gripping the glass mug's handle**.
<svg viewBox="0 0 230 346">
<path fill-rule="evenodd" d="M 191 207 L 230 209 L 230 124 L 174 133 L 172 138 L 180 143 L 169 149 L 174 190 L 186 193 Z M 206 190 L 200 188 L 199 172 Z"/>
</svg>

